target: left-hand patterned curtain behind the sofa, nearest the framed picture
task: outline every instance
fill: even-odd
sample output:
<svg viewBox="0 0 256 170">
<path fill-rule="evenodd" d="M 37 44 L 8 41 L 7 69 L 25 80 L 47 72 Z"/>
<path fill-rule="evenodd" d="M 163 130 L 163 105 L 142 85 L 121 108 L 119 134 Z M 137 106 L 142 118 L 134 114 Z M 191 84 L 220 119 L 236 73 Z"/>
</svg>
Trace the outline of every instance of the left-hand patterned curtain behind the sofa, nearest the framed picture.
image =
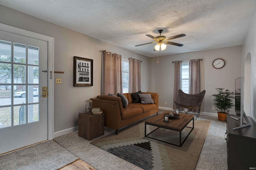
<svg viewBox="0 0 256 170">
<path fill-rule="evenodd" d="M 103 51 L 102 95 L 122 93 L 121 71 L 121 55 Z"/>
</svg>

